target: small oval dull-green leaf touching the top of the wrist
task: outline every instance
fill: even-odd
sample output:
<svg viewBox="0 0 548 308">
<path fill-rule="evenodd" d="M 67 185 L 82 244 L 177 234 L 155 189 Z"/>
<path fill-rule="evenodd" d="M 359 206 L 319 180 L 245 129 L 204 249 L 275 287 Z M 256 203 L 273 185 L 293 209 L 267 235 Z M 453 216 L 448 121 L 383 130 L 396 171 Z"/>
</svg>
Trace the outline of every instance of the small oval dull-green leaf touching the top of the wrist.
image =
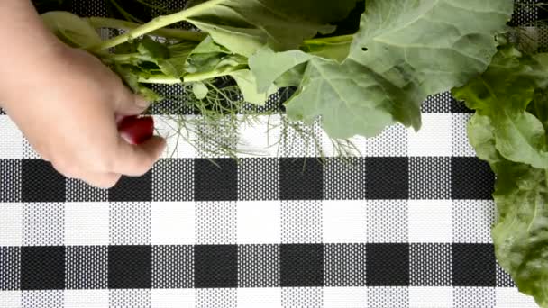
<svg viewBox="0 0 548 308">
<path fill-rule="evenodd" d="M 41 14 L 41 19 L 68 46 L 87 48 L 101 43 L 101 37 L 91 23 L 75 14 L 53 11 Z"/>
</svg>

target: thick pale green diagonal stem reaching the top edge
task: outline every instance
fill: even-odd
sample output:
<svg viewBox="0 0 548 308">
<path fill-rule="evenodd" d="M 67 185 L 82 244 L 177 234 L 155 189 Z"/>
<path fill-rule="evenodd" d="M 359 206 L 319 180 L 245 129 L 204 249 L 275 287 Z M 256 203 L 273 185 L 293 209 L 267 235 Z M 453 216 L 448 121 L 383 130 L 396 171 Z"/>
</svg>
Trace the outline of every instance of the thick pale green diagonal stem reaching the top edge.
<svg viewBox="0 0 548 308">
<path fill-rule="evenodd" d="M 193 15 L 196 15 L 211 7 L 215 7 L 215 5 L 222 4 L 226 1 L 227 0 L 209 0 L 201 5 L 192 6 L 188 8 L 187 10 L 183 10 L 176 14 L 170 14 L 170 15 L 154 18 L 149 23 L 142 24 L 139 27 L 132 29 L 130 32 L 119 35 L 113 39 L 103 41 L 101 44 L 92 46 L 88 48 L 87 50 L 91 52 L 96 52 L 99 50 L 106 50 L 109 48 L 113 48 L 115 46 L 123 44 L 126 41 L 132 41 L 132 39 L 134 38 L 138 38 L 142 35 L 158 31 L 161 28 L 167 27 L 173 23 L 184 22 L 188 18 L 192 17 Z"/>
</svg>

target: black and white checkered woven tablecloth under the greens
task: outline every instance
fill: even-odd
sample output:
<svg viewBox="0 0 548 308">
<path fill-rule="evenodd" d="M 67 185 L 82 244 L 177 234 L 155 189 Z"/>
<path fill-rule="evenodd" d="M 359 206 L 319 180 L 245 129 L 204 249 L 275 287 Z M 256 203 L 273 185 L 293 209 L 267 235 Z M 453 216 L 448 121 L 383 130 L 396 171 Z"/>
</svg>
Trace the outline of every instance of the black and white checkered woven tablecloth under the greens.
<svg viewBox="0 0 548 308">
<path fill-rule="evenodd" d="M 350 164 L 242 128 L 260 155 L 179 143 L 108 191 L 59 176 L 2 113 L 0 307 L 536 307 L 494 257 L 469 111 L 448 94 L 423 110 L 419 133 L 355 140 Z"/>
</svg>

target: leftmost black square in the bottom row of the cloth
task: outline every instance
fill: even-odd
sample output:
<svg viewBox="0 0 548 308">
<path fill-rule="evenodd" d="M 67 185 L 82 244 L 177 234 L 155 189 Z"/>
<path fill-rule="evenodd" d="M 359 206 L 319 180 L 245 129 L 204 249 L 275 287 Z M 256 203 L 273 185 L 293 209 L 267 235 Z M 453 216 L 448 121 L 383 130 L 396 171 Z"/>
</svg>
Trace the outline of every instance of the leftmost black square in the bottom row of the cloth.
<svg viewBox="0 0 548 308">
<path fill-rule="evenodd" d="M 65 247 L 23 246 L 21 249 L 22 290 L 65 288 Z"/>
</svg>

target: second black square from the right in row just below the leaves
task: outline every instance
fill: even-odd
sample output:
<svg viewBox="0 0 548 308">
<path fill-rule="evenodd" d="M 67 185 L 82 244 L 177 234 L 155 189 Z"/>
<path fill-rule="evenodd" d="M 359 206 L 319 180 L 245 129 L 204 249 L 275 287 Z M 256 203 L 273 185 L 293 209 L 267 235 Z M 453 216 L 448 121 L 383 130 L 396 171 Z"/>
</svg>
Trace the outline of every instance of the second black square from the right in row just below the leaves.
<svg viewBox="0 0 548 308">
<path fill-rule="evenodd" d="M 409 198 L 408 158 L 367 158 L 365 170 L 368 199 Z"/>
</svg>

